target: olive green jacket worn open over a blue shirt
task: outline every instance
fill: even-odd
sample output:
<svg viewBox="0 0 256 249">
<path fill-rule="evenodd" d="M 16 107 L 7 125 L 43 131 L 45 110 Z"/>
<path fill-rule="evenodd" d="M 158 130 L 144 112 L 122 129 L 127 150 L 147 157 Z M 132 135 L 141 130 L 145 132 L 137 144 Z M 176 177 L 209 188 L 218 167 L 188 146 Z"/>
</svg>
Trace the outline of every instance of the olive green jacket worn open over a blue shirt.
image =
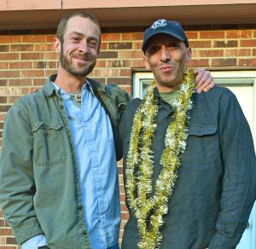
<svg viewBox="0 0 256 249">
<path fill-rule="evenodd" d="M 48 78 L 42 90 L 10 108 L 3 129 L 0 204 L 19 244 L 44 234 L 49 248 L 90 248 L 84 224 L 78 164 L 67 113 Z M 113 126 L 130 96 L 117 86 L 89 79 Z"/>
</svg>

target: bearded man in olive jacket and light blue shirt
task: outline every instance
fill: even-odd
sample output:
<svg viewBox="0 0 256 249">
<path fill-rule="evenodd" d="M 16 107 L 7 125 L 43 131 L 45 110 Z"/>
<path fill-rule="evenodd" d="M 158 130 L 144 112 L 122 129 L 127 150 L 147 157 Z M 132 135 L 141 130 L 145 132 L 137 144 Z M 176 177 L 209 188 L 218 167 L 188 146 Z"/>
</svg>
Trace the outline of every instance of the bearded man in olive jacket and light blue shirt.
<svg viewBox="0 0 256 249">
<path fill-rule="evenodd" d="M 117 125 L 130 96 L 86 78 L 100 44 L 94 16 L 67 15 L 55 38 L 57 75 L 7 115 L 0 200 L 21 248 L 119 247 Z M 199 79 L 211 88 L 204 72 Z"/>
</svg>

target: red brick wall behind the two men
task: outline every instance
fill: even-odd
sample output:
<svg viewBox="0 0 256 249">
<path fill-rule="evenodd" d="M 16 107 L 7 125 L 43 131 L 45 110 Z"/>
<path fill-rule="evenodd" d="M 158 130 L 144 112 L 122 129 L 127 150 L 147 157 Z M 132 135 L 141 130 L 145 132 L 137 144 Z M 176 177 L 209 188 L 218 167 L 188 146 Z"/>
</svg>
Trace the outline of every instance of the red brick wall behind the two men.
<svg viewBox="0 0 256 249">
<path fill-rule="evenodd" d="M 90 77 L 104 84 L 119 84 L 131 92 L 131 68 L 143 68 L 141 44 L 143 28 L 103 30 L 102 51 Z M 256 68 L 256 25 L 186 26 L 192 49 L 193 67 Z M 53 49 L 55 30 L 0 31 L 0 148 L 3 122 L 9 107 L 20 96 L 44 84 L 56 72 Z M 121 235 L 128 213 L 119 162 Z M 17 248 L 15 239 L 0 211 L 0 248 Z"/>
</svg>

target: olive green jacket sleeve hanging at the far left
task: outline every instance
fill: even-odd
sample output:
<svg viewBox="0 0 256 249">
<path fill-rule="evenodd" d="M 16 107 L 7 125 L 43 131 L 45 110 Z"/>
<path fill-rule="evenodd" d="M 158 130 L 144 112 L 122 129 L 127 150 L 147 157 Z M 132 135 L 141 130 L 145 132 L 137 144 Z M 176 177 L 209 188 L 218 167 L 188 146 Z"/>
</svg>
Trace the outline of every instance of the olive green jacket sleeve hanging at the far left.
<svg viewBox="0 0 256 249">
<path fill-rule="evenodd" d="M 28 113 L 11 107 L 3 128 L 0 161 L 0 204 L 18 244 L 43 231 L 34 211 L 36 185 L 32 166 L 32 129 Z"/>
</svg>

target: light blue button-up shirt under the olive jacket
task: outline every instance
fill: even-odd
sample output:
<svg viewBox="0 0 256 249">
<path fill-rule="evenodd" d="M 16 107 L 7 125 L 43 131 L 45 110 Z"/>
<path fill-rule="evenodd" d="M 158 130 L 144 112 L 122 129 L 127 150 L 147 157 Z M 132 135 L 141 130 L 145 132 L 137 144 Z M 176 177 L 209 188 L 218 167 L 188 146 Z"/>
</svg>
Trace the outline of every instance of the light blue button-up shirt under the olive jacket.
<svg viewBox="0 0 256 249">
<path fill-rule="evenodd" d="M 118 243 L 120 225 L 119 180 L 110 120 L 88 81 L 82 88 L 81 107 L 53 84 L 64 101 L 73 134 L 90 245 L 93 249 L 108 248 Z M 37 235 L 26 240 L 22 249 L 42 244 L 46 244 L 44 235 Z"/>
</svg>

